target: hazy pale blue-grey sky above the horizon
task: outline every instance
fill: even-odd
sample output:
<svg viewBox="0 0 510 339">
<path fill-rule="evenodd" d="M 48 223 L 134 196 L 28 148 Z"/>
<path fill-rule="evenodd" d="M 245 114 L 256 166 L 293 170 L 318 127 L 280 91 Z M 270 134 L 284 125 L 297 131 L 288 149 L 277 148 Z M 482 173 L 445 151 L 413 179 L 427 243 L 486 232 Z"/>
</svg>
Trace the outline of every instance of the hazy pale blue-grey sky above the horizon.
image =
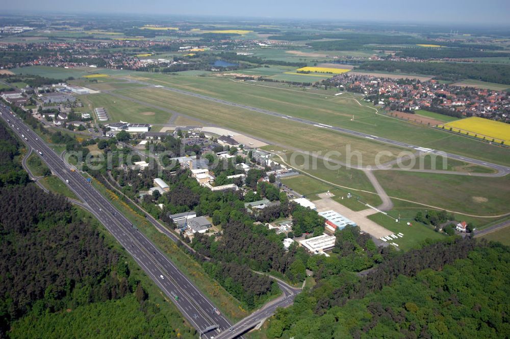
<svg viewBox="0 0 510 339">
<path fill-rule="evenodd" d="M 2 12 L 140 13 L 510 25 L 510 0 L 5 0 Z"/>
</svg>

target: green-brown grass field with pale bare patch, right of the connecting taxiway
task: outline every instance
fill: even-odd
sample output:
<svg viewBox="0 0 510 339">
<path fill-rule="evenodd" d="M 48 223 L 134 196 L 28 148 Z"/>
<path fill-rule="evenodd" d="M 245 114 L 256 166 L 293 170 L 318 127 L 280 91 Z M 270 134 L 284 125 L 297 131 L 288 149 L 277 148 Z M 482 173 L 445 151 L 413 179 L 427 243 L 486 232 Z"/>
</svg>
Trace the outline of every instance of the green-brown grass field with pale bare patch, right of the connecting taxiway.
<svg viewBox="0 0 510 339">
<path fill-rule="evenodd" d="M 484 178 L 402 171 L 374 174 L 391 197 L 473 215 L 508 212 L 510 176 Z"/>
</svg>

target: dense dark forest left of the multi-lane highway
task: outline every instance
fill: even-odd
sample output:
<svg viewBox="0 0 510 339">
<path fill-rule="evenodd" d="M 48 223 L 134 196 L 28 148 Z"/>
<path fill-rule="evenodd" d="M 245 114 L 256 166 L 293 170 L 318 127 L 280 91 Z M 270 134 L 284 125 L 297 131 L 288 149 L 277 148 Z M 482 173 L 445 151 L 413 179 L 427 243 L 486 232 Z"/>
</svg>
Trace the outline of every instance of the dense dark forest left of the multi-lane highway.
<svg viewBox="0 0 510 339">
<path fill-rule="evenodd" d="M 92 216 L 29 182 L 19 149 L 0 123 L 0 337 L 193 337 Z"/>
</svg>

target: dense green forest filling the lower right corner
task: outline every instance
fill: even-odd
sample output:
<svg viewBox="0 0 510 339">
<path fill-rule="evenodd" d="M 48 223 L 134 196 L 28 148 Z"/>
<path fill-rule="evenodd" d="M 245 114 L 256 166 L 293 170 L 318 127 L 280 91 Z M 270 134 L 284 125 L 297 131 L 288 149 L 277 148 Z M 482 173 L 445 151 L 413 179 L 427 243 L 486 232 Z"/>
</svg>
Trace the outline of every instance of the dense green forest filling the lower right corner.
<svg viewBox="0 0 510 339">
<path fill-rule="evenodd" d="M 510 249 L 456 240 L 394 255 L 366 278 L 342 273 L 279 309 L 269 338 L 503 338 Z"/>
</svg>

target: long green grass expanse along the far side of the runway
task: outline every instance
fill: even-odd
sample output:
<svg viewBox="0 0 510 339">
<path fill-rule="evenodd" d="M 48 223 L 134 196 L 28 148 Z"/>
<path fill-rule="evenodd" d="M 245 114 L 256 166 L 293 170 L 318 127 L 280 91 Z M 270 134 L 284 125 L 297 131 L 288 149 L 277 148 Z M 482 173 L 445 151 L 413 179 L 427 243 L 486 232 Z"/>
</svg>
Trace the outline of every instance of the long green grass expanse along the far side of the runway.
<svg viewBox="0 0 510 339">
<path fill-rule="evenodd" d="M 172 78 L 150 74 L 148 78 L 141 79 L 291 116 L 303 117 L 319 123 L 342 126 L 398 141 L 413 142 L 421 147 L 477 157 L 490 162 L 510 164 L 510 152 L 506 149 L 493 147 L 460 135 L 448 134 L 427 126 L 409 124 L 398 119 L 377 115 L 374 114 L 373 109 L 363 107 L 365 105 L 360 106 L 357 102 L 341 96 L 320 95 L 320 91 L 286 90 L 284 88 L 275 90 L 271 86 L 252 86 L 252 83 L 249 82 L 233 82 L 228 79 L 209 77 Z M 148 94 L 153 91 L 154 94 Z M 145 93 L 124 92 L 124 94 L 137 94 L 144 97 L 156 96 L 157 98 L 173 96 L 175 100 L 179 100 L 176 99 L 176 94 L 170 94 L 168 91 L 157 88 L 146 89 Z M 187 100 L 194 101 L 195 99 L 187 97 Z M 352 116 L 354 116 L 354 120 L 352 120 Z"/>
</svg>

